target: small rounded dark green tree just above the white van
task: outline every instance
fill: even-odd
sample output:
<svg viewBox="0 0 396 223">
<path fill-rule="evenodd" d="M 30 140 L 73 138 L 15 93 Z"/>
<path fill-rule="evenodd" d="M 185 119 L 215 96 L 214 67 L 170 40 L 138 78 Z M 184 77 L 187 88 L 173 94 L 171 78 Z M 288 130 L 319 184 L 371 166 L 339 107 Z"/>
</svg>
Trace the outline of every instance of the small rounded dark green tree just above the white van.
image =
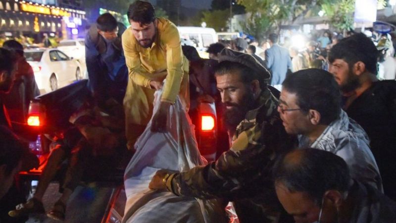
<svg viewBox="0 0 396 223">
<path fill-rule="evenodd" d="M 228 24 L 230 12 L 226 10 L 212 10 L 202 11 L 202 22 L 206 23 L 207 27 L 215 29 L 217 32 L 224 31 Z"/>
</svg>

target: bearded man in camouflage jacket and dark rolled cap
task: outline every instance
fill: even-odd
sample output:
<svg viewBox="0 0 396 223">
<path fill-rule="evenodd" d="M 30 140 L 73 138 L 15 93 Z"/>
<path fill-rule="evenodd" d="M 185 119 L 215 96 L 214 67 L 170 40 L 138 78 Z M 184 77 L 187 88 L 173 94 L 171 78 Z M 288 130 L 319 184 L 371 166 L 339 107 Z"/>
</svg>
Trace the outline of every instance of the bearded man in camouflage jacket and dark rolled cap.
<svg viewBox="0 0 396 223">
<path fill-rule="evenodd" d="M 278 101 L 267 87 L 269 72 L 254 57 L 229 49 L 221 52 L 219 62 L 217 89 L 228 128 L 234 128 L 230 150 L 189 171 L 158 170 L 149 187 L 232 201 L 241 223 L 277 222 L 281 209 L 270 172 L 278 155 L 294 147 L 295 138 L 287 135 L 276 112 Z"/>
</svg>

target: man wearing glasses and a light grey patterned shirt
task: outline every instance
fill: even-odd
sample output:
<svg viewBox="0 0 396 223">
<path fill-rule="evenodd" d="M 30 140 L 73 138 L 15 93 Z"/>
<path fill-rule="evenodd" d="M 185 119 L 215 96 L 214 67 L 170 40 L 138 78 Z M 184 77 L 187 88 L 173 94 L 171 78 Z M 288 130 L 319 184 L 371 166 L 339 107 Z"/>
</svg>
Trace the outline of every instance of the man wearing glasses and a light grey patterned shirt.
<svg viewBox="0 0 396 223">
<path fill-rule="evenodd" d="M 366 132 L 341 110 L 341 94 L 332 74 L 300 70 L 282 84 L 278 112 L 287 133 L 298 135 L 298 147 L 332 152 L 343 158 L 351 177 L 383 191 Z"/>
</svg>

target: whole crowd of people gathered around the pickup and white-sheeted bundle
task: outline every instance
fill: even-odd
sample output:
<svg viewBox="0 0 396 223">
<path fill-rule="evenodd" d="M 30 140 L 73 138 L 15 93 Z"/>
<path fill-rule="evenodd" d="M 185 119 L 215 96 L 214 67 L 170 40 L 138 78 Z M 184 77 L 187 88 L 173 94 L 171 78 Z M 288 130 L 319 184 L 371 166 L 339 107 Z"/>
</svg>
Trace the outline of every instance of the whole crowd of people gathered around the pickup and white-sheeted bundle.
<svg viewBox="0 0 396 223">
<path fill-rule="evenodd" d="M 110 168 L 116 165 L 114 156 L 128 151 L 132 155 L 150 119 L 152 132 L 166 132 L 169 108 L 179 98 L 189 111 L 194 86 L 201 89 L 201 100 L 222 105 L 221 123 L 230 148 L 204 166 L 158 170 L 150 189 L 222 199 L 224 208 L 232 202 L 240 223 L 395 221 L 396 71 L 389 65 L 395 59 L 388 36 L 376 46 L 362 33 L 330 38 L 324 32 L 300 52 L 281 47 L 279 35 L 270 34 L 261 56 L 242 38 L 230 46 L 212 44 L 207 50 L 212 71 L 202 75 L 213 75 L 206 80 L 214 82 L 216 98 L 216 93 L 208 93 L 210 84 L 204 89 L 196 79 L 189 80 L 200 58 L 194 49 L 181 46 L 171 21 L 155 17 L 153 6 L 141 0 L 130 5 L 127 15 L 128 29 L 105 13 L 88 32 L 90 112 L 74 115 L 74 127 L 49 155 L 36 194 L 6 210 L 11 217 L 44 213 L 42 197 L 54 169 L 68 158 L 72 162 L 64 194 L 48 213 L 63 220 L 84 170 L 99 173 L 99 163 L 108 160 L 111 164 L 100 167 Z M 0 48 L 4 94 L 20 69 L 18 52 L 5 48 Z M 378 63 L 383 63 L 382 71 Z M 163 93 L 153 111 L 159 89 Z M 6 197 L 29 157 L 27 146 L 12 133 L 2 101 L 0 198 Z M 108 115 L 103 117 L 103 112 Z"/>
</svg>

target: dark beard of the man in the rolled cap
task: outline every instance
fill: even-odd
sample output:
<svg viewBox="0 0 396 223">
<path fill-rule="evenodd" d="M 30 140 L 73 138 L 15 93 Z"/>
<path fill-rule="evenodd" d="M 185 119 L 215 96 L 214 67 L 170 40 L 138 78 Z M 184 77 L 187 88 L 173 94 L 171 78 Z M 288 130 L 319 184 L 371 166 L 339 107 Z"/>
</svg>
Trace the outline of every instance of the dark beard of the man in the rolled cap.
<svg viewBox="0 0 396 223">
<path fill-rule="evenodd" d="M 242 98 L 240 105 L 234 103 L 224 103 L 223 106 L 232 106 L 231 109 L 225 109 L 223 115 L 224 127 L 229 132 L 234 132 L 238 124 L 245 119 L 247 111 L 254 107 L 254 97 L 251 91 L 248 91 Z"/>
</svg>

